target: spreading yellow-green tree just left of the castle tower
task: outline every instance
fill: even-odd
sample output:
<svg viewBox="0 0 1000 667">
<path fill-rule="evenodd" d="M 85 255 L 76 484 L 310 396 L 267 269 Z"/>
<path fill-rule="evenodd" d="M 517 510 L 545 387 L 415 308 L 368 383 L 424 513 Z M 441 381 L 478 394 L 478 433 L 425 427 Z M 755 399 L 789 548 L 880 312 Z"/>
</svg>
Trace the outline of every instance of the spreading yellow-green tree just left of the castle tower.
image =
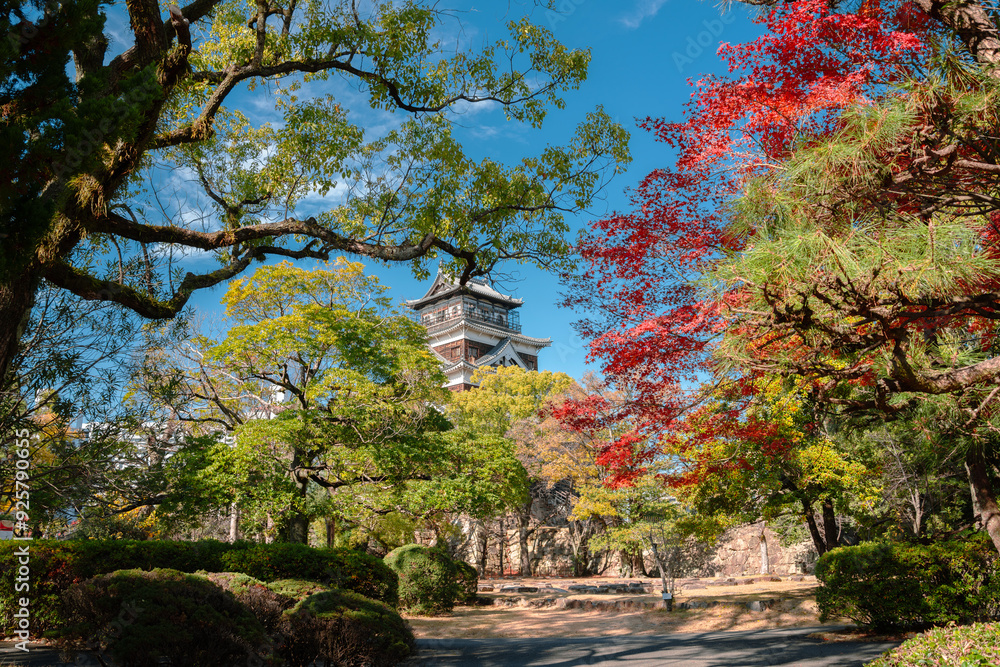
<svg viewBox="0 0 1000 667">
<path fill-rule="evenodd" d="M 367 540 L 382 517 L 492 515 L 520 497 L 513 443 L 450 430 L 426 333 L 386 290 L 345 260 L 261 268 L 230 285 L 224 338 L 154 353 L 147 391 L 202 434 L 176 457 L 165 513 L 233 506 L 265 535 L 304 541 L 322 518 L 328 539 Z"/>
</svg>

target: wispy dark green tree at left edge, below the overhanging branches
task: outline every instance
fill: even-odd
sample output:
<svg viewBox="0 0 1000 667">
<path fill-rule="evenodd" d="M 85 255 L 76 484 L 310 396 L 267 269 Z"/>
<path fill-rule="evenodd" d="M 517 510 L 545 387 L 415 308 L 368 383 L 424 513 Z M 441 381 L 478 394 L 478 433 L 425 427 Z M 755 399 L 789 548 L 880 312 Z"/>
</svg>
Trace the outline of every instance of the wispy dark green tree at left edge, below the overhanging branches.
<svg viewBox="0 0 1000 667">
<path fill-rule="evenodd" d="M 151 326 L 116 304 L 43 283 L 16 371 L 0 381 L 0 515 L 25 490 L 16 488 L 14 468 L 24 449 L 30 465 L 20 481 L 36 536 L 61 533 L 81 516 L 136 510 L 159 495 L 170 434 L 143 423 L 148 406 L 127 400 L 126 388 L 144 345 L 184 332 L 183 320 Z"/>
</svg>

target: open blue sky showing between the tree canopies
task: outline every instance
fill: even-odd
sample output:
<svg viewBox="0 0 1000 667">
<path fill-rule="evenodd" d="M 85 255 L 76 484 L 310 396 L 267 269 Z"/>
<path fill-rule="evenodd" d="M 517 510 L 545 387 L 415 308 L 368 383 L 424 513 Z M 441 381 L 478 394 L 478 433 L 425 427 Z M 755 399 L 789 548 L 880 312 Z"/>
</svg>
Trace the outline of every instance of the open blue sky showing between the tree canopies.
<svg viewBox="0 0 1000 667">
<path fill-rule="evenodd" d="M 719 43 L 751 40 L 760 34 L 761 27 L 750 20 L 755 10 L 744 5 L 723 13 L 715 4 L 695 0 L 557 0 L 556 4 L 559 11 L 553 12 L 535 8 L 530 2 L 458 3 L 464 39 L 471 44 L 501 37 L 506 21 L 530 11 L 536 23 L 548 27 L 567 46 L 589 47 L 592 61 L 587 81 L 566 96 L 565 109 L 549 114 L 541 130 L 507 122 L 495 109 L 476 109 L 458 118 L 462 127 L 456 134 L 469 154 L 514 162 L 534 154 L 542 144 L 564 143 L 587 112 L 603 105 L 632 133 L 633 162 L 626 173 L 611 181 L 602 201 L 570 220 L 579 230 L 612 211 L 628 210 L 627 188 L 652 169 L 669 165 L 666 148 L 638 129 L 635 119 L 680 119 L 691 94 L 688 81 L 723 71 L 716 55 Z M 351 94 L 345 90 L 345 95 Z M 353 94 L 360 100 L 356 91 Z M 257 98 L 247 104 L 266 117 L 265 100 Z M 397 121 L 363 105 L 352 111 L 367 114 L 362 116 L 366 125 Z M 429 286 L 429 281 L 416 281 L 406 266 L 386 268 L 369 263 L 369 271 L 391 286 L 398 300 L 421 296 Z M 585 342 L 572 329 L 579 315 L 557 307 L 561 300 L 558 277 L 516 265 L 506 267 L 506 272 L 519 280 L 497 287 L 524 300 L 524 333 L 552 338 L 552 347 L 539 359 L 541 368 L 582 377 L 588 370 Z M 222 292 L 223 288 L 217 287 L 199 293 L 192 303 L 207 316 L 217 316 Z"/>
</svg>

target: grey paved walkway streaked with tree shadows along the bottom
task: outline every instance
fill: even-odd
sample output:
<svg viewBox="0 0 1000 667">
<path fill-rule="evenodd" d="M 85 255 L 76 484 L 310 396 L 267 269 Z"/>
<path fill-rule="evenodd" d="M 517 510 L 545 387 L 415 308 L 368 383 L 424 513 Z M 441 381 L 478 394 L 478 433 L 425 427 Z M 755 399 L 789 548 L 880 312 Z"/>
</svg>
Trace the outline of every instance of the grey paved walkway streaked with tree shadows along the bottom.
<svg viewBox="0 0 1000 667">
<path fill-rule="evenodd" d="M 423 639 L 407 667 L 684 667 L 863 665 L 896 646 L 887 642 L 823 642 L 806 635 L 831 628 L 677 633 L 566 639 Z"/>
</svg>

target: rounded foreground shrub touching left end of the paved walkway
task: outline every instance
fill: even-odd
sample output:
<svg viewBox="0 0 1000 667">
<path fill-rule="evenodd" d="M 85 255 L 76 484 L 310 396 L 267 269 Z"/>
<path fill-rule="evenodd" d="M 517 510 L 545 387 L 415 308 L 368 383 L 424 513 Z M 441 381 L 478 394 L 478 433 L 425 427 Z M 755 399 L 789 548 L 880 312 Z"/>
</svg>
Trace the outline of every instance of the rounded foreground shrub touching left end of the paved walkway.
<svg viewBox="0 0 1000 667">
<path fill-rule="evenodd" d="M 285 613 L 288 634 L 301 651 L 293 667 L 313 655 L 343 667 L 395 665 L 413 652 L 413 632 L 392 607 L 351 591 L 331 590 L 300 600 Z M 284 655 L 283 655 L 284 657 Z"/>
</svg>

